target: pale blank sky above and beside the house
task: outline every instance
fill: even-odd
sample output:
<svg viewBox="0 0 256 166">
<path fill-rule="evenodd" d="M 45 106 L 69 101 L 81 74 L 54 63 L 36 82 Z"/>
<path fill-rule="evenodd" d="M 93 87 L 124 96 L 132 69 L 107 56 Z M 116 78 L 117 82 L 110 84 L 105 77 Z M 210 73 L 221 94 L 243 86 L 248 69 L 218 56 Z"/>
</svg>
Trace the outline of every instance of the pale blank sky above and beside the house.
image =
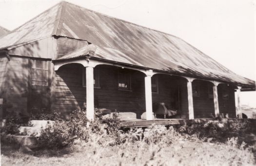
<svg viewBox="0 0 256 166">
<path fill-rule="evenodd" d="M 60 0 L 0 0 L 0 26 L 22 25 Z M 66 0 L 182 38 L 236 74 L 256 80 L 256 0 Z M 241 103 L 256 108 L 256 92 Z"/>
</svg>

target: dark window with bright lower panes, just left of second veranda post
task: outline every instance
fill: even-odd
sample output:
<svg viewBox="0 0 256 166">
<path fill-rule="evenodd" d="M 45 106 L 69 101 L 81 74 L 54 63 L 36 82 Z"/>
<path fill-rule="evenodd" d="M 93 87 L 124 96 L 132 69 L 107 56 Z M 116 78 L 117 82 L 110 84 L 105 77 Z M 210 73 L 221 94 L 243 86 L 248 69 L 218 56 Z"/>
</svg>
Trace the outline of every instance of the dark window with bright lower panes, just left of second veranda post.
<svg viewBox="0 0 256 166">
<path fill-rule="evenodd" d="M 118 71 L 118 89 L 119 90 L 131 90 L 131 74 L 128 71 Z"/>
</svg>

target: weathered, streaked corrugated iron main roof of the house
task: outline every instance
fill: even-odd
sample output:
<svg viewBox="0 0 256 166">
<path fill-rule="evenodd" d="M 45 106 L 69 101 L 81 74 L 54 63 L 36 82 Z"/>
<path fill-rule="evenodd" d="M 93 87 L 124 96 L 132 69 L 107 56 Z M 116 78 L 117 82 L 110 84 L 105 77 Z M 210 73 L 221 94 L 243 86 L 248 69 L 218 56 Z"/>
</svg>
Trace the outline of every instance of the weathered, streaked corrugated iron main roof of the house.
<svg viewBox="0 0 256 166">
<path fill-rule="evenodd" d="M 255 81 L 231 72 L 178 37 L 68 2 L 60 2 L 3 37 L 0 46 L 50 35 L 87 40 L 97 47 L 95 57 L 101 59 L 255 86 Z"/>
</svg>

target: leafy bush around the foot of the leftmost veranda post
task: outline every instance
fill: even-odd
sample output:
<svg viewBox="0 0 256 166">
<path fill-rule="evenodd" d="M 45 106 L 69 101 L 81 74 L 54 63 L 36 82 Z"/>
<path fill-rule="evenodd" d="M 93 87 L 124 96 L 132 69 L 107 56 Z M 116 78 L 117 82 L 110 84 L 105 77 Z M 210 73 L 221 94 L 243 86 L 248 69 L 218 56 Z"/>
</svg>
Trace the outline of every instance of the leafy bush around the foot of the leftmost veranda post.
<svg viewBox="0 0 256 166">
<path fill-rule="evenodd" d="M 117 145 L 121 143 L 120 121 L 118 114 L 113 113 L 109 117 L 103 117 L 95 110 L 95 120 L 90 122 L 86 118 L 86 111 L 73 111 L 72 118 L 67 121 L 56 120 L 54 126 L 48 126 L 39 136 L 39 143 L 45 148 L 60 148 L 71 145 L 75 140 L 87 142 L 92 134 L 104 135 L 105 139 L 111 138 Z M 87 127 L 89 122 L 90 128 Z M 104 129 L 105 128 L 105 129 Z M 104 141 L 103 141 L 104 142 Z M 101 140 L 101 143 L 103 143 Z"/>
</svg>

